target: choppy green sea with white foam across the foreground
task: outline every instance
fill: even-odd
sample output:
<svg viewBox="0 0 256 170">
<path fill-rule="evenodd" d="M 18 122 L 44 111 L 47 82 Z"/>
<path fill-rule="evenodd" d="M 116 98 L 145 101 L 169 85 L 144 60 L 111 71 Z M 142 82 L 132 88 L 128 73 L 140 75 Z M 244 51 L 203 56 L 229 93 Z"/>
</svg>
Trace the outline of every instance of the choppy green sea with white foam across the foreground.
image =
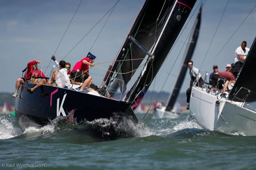
<svg viewBox="0 0 256 170">
<path fill-rule="evenodd" d="M 113 123 L 88 124 L 99 122 Z M 0 169 L 256 169 L 255 136 L 197 129 L 187 114 L 153 114 L 147 127 L 128 122 L 121 128 L 133 137 L 115 140 L 95 136 L 88 124 L 51 123 L 22 132 L 15 117 L 0 115 Z"/>
</svg>

